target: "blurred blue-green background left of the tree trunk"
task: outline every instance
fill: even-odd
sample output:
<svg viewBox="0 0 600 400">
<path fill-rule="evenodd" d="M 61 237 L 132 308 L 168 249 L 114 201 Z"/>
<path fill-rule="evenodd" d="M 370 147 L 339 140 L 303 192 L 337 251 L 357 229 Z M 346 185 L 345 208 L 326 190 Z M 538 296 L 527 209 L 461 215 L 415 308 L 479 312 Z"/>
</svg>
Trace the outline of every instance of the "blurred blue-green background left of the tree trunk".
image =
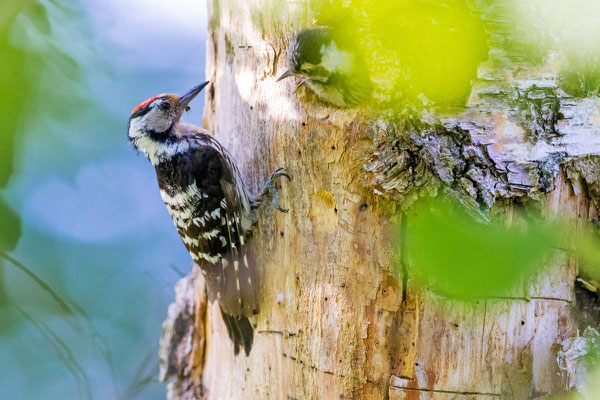
<svg viewBox="0 0 600 400">
<path fill-rule="evenodd" d="M 161 323 L 191 262 L 126 124 L 204 80 L 205 6 L 0 3 L 1 397 L 164 398 Z"/>
</svg>

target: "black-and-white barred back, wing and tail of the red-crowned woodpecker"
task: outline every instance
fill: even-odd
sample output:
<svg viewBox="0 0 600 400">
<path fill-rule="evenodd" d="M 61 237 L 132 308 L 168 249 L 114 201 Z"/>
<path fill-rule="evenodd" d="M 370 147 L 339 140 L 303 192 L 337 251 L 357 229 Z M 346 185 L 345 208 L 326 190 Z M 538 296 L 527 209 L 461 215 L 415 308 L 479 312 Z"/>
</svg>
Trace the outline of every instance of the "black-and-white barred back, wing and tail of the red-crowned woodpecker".
<svg viewBox="0 0 600 400">
<path fill-rule="evenodd" d="M 172 181 L 179 188 L 169 194 L 163 192 L 170 188 L 161 186 L 161 193 L 206 278 L 209 299 L 219 302 L 236 354 L 240 346 L 248 354 L 254 334 L 249 318 L 258 312 L 255 258 L 248 243 L 250 200 L 227 152 L 213 144 L 178 160 Z"/>
</svg>

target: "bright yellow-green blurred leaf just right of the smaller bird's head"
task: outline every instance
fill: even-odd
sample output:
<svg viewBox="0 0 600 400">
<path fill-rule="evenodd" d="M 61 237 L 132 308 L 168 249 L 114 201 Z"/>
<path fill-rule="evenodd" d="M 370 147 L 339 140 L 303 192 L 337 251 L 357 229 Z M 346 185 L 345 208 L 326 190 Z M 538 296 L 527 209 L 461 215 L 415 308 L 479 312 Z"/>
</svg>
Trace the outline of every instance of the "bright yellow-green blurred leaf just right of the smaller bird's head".
<svg viewBox="0 0 600 400">
<path fill-rule="evenodd" d="M 316 22 L 361 50 L 378 105 L 464 105 L 488 59 L 483 21 L 464 0 L 313 0 Z"/>
</svg>

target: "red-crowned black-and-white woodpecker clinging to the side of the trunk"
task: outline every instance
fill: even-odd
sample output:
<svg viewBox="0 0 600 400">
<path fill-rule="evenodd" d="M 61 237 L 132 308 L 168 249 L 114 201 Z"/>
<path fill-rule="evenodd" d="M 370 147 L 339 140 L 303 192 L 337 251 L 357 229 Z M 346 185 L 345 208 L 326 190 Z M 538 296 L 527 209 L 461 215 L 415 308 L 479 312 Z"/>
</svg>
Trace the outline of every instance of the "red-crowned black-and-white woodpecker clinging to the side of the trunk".
<svg viewBox="0 0 600 400">
<path fill-rule="evenodd" d="M 249 240 L 257 210 L 271 198 L 281 212 L 273 172 L 258 196 L 244 184 L 229 152 L 209 132 L 180 122 L 189 103 L 209 82 L 185 93 L 160 94 L 132 112 L 127 136 L 156 169 L 158 187 L 173 223 L 206 279 L 237 355 L 250 354 L 258 313 L 258 274 Z"/>
</svg>

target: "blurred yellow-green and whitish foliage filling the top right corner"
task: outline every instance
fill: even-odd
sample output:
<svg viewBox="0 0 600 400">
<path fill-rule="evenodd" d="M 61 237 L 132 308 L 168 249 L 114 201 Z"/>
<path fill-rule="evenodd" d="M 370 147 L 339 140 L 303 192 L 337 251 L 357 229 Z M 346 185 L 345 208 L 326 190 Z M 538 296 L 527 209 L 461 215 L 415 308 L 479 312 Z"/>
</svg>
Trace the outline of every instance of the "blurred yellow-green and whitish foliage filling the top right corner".
<svg viewBox="0 0 600 400">
<path fill-rule="evenodd" d="M 505 80 L 508 72 L 541 66 L 558 54 L 558 83 L 567 93 L 585 97 L 598 95 L 600 89 L 600 6 L 595 0 L 310 4 L 315 25 L 333 27 L 338 39 L 359 48 L 377 88 L 376 110 L 410 113 L 430 106 L 462 106 L 478 79 L 479 66 L 488 60 L 499 83 L 510 84 Z"/>
</svg>

